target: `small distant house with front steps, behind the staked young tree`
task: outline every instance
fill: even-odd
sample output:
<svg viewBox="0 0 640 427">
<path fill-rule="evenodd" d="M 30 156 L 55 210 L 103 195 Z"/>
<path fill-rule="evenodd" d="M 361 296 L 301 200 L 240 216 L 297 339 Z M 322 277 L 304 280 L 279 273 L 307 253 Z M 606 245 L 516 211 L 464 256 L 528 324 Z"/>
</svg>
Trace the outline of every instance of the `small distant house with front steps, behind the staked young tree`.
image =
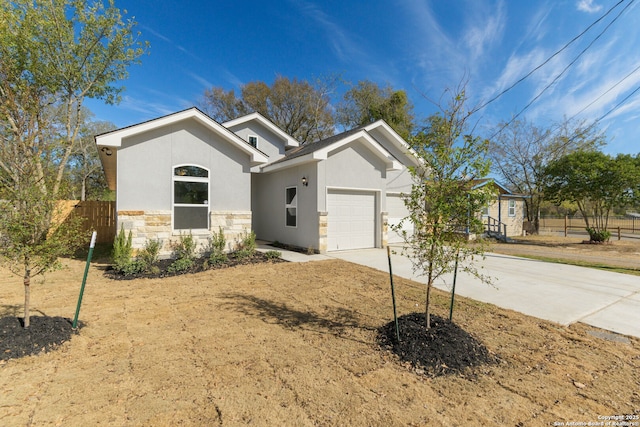
<svg viewBox="0 0 640 427">
<path fill-rule="evenodd" d="M 496 190 L 496 198 L 482 211 L 485 229 L 496 237 L 522 236 L 525 221 L 524 199 L 527 196 L 513 194 L 507 187 L 492 179 L 478 180 L 474 188 L 485 185 L 491 185 Z"/>
</svg>

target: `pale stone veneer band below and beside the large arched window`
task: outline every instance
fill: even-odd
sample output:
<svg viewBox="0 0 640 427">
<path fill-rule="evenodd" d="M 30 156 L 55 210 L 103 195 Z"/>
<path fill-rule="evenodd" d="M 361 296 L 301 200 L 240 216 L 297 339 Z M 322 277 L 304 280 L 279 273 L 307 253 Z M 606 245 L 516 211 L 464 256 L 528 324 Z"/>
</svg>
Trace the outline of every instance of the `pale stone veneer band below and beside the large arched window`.
<svg viewBox="0 0 640 427">
<path fill-rule="evenodd" d="M 209 218 L 209 232 L 192 233 L 200 249 L 207 246 L 212 232 L 217 233 L 220 228 L 229 251 L 235 249 L 245 233 L 251 232 L 251 211 L 213 211 Z M 142 249 L 147 240 L 160 239 L 160 256 L 165 258 L 171 255 L 171 244 L 180 238 L 180 232 L 171 229 L 171 211 L 118 211 L 117 226 L 118 232 L 121 227 L 125 233 L 131 231 L 134 250 Z"/>
</svg>

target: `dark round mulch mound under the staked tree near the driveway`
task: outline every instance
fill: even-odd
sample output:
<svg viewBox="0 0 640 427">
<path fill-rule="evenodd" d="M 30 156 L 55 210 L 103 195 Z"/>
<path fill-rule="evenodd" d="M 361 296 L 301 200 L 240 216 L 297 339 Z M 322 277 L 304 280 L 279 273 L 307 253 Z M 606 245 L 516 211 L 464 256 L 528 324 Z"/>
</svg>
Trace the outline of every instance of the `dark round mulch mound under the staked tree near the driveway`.
<svg viewBox="0 0 640 427">
<path fill-rule="evenodd" d="M 473 368 L 500 362 L 497 355 L 458 325 L 433 314 L 430 329 L 425 327 L 424 313 L 398 317 L 398 329 L 400 342 L 393 321 L 378 329 L 378 342 L 420 375 L 473 377 Z"/>
</svg>

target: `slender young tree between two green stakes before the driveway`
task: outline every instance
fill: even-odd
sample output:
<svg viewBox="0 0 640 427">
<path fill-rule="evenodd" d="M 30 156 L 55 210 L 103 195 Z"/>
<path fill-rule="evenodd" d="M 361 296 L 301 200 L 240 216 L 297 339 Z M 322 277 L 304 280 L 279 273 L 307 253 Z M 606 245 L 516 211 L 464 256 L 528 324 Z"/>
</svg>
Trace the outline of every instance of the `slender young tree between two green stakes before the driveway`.
<svg viewBox="0 0 640 427">
<path fill-rule="evenodd" d="M 426 276 L 425 320 L 431 326 L 431 290 L 436 280 L 459 268 L 483 281 L 473 260 L 482 255 L 481 241 L 469 236 L 483 231 L 478 213 L 493 194 L 489 187 L 476 188 L 478 179 L 489 173 L 488 141 L 469 133 L 469 113 L 464 91 L 452 96 L 449 105 L 427 119 L 425 129 L 410 140 L 422 165 L 410 168 L 411 192 L 404 202 L 409 216 L 403 221 L 414 224 L 414 232 L 395 227 L 405 240 L 407 256 L 417 274 Z"/>
</svg>

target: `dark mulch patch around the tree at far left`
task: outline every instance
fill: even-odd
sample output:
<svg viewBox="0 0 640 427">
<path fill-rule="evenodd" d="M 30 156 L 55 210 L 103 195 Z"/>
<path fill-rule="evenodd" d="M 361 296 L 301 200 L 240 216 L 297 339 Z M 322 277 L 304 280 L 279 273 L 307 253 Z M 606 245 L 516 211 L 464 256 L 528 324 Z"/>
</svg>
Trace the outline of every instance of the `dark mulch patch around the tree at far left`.
<svg viewBox="0 0 640 427">
<path fill-rule="evenodd" d="M 0 318 L 0 361 L 55 350 L 76 333 L 64 317 L 31 316 L 28 328 L 21 317 Z"/>
</svg>

